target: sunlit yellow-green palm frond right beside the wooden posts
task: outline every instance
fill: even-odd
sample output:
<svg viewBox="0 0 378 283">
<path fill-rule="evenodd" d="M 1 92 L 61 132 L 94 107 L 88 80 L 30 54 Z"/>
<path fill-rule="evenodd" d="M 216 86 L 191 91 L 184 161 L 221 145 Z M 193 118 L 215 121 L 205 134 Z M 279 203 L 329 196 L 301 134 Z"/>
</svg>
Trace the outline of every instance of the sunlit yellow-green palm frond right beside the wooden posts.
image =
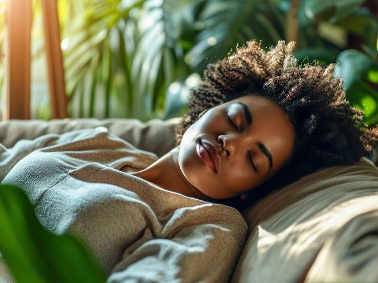
<svg viewBox="0 0 378 283">
<path fill-rule="evenodd" d="M 130 105 L 128 102 L 132 101 L 133 93 L 130 53 L 124 37 L 125 31 L 130 28 L 127 25 L 130 11 L 140 8 L 145 1 L 83 0 L 86 9 L 72 17 L 70 28 L 63 33 L 63 37 L 69 42 L 64 52 L 68 96 L 88 96 L 88 99 L 80 98 L 84 104 L 80 106 L 80 117 L 98 116 L 96 109 L 101 108 L 101 105 L 96 104 L 97 101 L 103 101 L 104 117 L 116 112 L 114 108 L 122 111 L 123 116 L 129 114 L 127 105 Z M 119 74 L 124 76 L 120 80 Z M 114 97 L 120 88 L 127 90 L 124 92 L 125 102 L 119 105 L 117 101 L 112 105 L 112 101 L 120 100 Z M 100 96 L 102 98 L 99 100 Z M 71 107 L 77 105 L 71 103 Z M 129 112 L 130 109 L 131 106 Z"/>
</svg>

